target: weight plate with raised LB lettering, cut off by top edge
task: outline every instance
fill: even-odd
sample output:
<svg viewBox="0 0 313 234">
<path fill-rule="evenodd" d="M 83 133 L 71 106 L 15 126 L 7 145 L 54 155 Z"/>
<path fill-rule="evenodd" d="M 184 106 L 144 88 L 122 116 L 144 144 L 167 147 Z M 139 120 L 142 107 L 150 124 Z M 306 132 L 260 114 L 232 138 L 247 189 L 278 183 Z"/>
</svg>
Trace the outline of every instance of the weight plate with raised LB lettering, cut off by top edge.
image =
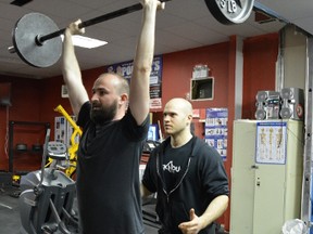
<svg viewBox="0 0 313 234">
<path fill-rule="evenodd" d="M 222 24 L 241 24 L 251 14 L 254 0 L 205 0 L 211 14 Z"/>
</svg>

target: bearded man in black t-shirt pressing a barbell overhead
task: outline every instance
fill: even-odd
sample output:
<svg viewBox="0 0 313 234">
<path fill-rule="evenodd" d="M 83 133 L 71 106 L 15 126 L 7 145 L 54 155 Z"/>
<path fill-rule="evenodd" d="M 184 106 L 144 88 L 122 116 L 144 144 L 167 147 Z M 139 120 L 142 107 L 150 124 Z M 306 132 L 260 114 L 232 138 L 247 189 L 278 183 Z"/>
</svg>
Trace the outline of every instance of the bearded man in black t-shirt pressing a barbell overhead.
<svg viewBox="0 0 313 234">
<path fill-rule="evenodd" d="M 139 161 L 149 127 L 155 12 L 164 9 L 164 3 L 142 0 L 142 6 L 143 22 L 129 87 L 116 74 L 102 74 L 93 83 L 90 101 L 71 38 L 84 29 L 79 29 L 79 21 L 65 29 L 63 77 L 77 125 L 83 128 L 76 182 L 82 233 L 145 232 Z"/>
</svg>

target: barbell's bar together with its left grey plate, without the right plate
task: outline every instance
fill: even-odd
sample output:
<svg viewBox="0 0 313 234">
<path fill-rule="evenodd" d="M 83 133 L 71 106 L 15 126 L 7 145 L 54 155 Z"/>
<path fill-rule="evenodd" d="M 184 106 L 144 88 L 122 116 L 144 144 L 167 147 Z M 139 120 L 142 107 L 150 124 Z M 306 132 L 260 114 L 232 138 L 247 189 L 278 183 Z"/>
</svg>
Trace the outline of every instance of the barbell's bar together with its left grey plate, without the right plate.
<svg viewBox="0 0 313 234">
<path fill-rule="evenodd" d="M 163 0 L 167 2 L 171 0 Z M 104 21 L 120 17 L 142 9 L 137 3 L 117 11 L 91 18 L 78 24 L 78 28 L 88 27 Z M 53 31 L 53 32 L 51 32 Z M 28 13 L 21 17 L 13 30 L 13 47 L 8 50 L 27 64 L 35 67 L 49 67 L 55 64 L 62 54 L 61 36 L 65 28 L 59 29 L 54 22 L 40 13 Z"/>
</svg>

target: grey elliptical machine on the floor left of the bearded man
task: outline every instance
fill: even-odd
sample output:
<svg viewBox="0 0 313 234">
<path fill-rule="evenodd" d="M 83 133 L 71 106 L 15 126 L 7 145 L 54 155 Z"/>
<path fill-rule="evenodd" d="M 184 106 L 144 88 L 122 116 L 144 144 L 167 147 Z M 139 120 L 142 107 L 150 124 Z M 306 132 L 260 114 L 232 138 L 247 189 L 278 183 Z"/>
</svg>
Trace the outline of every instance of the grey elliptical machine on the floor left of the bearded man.
<svg viewBox="0 0 313 234">
<path fill-rule="evenodd" d="M 62 161 L 68 159 L 67 147 L 60 142 L 49 142 L 49 138 L 50 129 L 46 134 L 41 170 L 21 179 L 22 234 L 71 234 L 78 231 L 78 216 L 73 210 L 75 182 L 59 170 Z M 52 159 L 49 167 L 46 167 L 47 156 Z"/>
</svg>

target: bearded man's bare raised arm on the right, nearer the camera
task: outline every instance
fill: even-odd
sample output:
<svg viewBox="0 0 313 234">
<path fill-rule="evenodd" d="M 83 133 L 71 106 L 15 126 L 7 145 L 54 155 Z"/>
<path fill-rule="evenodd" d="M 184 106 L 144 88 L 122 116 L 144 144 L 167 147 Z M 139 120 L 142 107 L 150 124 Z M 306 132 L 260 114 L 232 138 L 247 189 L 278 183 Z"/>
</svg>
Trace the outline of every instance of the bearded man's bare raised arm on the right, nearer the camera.
<svg viewBox="0 0 313 234">
<path fill-rule="evenodd" d="M 146 119 L 150 108 L 149 82 L 154 53 L 155 15 L 165 3 L 142 0 L 143 15 L 130 79 L 129 107 L 138 125 Z"/>
</svg>

